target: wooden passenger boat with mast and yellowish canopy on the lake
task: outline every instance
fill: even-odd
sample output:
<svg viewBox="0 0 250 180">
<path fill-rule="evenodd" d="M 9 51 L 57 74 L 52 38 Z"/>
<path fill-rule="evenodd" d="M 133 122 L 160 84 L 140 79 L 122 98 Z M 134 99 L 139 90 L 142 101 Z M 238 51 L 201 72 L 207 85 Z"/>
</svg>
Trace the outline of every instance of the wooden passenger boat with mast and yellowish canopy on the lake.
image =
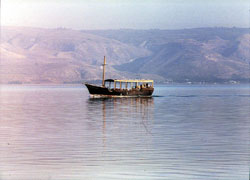
<svg viewBox="0 0 250 180">
<path fill-rule="evenodd" d="M 102 85 L 93 85 L 85 83 L 91 96 L 101 97 L 123 97 L 123 96 L 151 96 L 154 92 L 153 80 L 119 80 L 106 79 L 105 80 L 105 65 L 106 58 L 104 56 Z"/>
</svg>

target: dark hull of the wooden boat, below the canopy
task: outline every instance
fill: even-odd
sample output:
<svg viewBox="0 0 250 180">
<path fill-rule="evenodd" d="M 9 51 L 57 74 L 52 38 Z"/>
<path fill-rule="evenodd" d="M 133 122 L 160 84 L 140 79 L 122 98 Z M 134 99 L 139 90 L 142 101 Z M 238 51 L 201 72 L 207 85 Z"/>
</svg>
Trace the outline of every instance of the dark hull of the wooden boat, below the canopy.
<svg viewBox="0 0 250 180">
<path fill-rule="evenodd" d="M 97 96 L 151 96 L 154 88 L 147 87 L 141 89 L 109 89 L 102 86 L 96 86 L 85 83 L 91 95 Z"/>
</svg>

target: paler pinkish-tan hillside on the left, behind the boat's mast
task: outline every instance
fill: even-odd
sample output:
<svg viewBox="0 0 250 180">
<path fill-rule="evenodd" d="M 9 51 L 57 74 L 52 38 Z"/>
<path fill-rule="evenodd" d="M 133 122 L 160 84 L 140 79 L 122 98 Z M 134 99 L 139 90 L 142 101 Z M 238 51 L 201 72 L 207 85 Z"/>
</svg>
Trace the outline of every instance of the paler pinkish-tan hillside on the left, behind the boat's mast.
<svg viewBox="0 0 250 180">
<path fill-rule="evenodd" d="M 112 68 L 150 51 L 70 29 L 2 27 L 1 83 L 67 83 L 101 77 L 107 55 L 110 76 L 123 77 Z"/>
</svg>

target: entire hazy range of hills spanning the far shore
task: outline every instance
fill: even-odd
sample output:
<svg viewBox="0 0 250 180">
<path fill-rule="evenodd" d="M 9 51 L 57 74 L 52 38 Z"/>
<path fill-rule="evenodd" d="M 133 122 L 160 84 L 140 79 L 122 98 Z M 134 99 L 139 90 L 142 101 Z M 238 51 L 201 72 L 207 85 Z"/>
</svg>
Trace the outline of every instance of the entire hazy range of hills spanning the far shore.
<svg viewBox="0 0 250 180">
<path fill-rule="evenodd" d="M 88 30 L 1 27 L 1 83 L 72 83 L 101 78 L 249 82 L 246 28 Z"/>
</svg>

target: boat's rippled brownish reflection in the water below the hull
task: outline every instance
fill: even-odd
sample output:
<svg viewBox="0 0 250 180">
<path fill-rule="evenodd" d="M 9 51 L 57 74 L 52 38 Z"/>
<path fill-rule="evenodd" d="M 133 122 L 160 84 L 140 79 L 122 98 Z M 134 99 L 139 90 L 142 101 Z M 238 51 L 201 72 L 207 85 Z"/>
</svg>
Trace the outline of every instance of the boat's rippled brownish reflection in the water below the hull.
<svg viewBox="0 0 250 180">
<path fill-rule="evenodd" d="M 151 139 L 154 98 L 89 98 L 88 104 L 88 112 L 101 112 L 96 116 L 91 114 L 88 118 L 97 123 L 102 119 L 104 146 L 107 145 L 107 141 L 108 144 L 122 141 L 129 144 L 135 138 Z M 133 140 L 130 141 L 130 138 Z"/>
</svg>

